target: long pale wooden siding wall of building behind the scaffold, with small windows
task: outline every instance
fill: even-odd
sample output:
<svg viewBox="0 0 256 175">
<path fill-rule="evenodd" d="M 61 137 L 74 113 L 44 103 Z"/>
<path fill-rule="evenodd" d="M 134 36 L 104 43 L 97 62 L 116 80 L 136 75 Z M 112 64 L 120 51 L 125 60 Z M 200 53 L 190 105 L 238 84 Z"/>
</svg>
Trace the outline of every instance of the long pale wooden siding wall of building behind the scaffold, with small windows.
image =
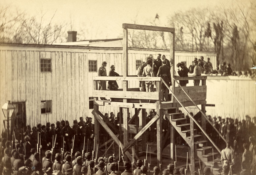
<svg viewBox="0 0 256 175">
<path fill-rule="evenodd" d="M 165 54 L 169 59 L 169 52 L 155 51 L 128 51 L 129 75 L 136 75 L 136 60 L 146 61 L 149 54 L 157 58 L 157 54 Z M 69 48 L 44 48 L 21 46 L 0 46 L 0 73 L 1 73 L 1 96 L 3 105 L 7 100 L 12 102 L 25 102 L 27 124 L 31 126 L 37 123 L 46 124 L 47 121 L 55 123 L 56 120 L 73 119 L 84 114 L 93 118 L 89 110 L 89 97 L 92 97 L 93 76 L 97 72 L 88 72 L 88 60 L 97 60 L 97 70 L 102 61 L 106 61 L 107 74 L 112 64 L 116 72 L 122 75 L 122 50 L 88 50 Z M 192 62 L 197 53 L 175 52 L 175 63 L 186 61 Z M 214 54 L 199 53 L 199 56 L 209 56 L 216 64 Z M 52 60 L 52 72 L 41 72 L 40 59 Z M 214 61 L 215 58 L 215 61 Z M 176 69 L 176 65 L 175 65 Z M 138 87 L 139 82 L 129 82 L 129 88 Z M 122 88 L 121 82 L 119 87 Z M 52 113 L 41 114 L 41 101 L 52 100 Z M 2 106 L 1 105 L 1 106 Z M 105 112 L 117 112 L 117 108 L 103 108 Z M 130 109 L 131 116 L 134 109 Z M 149 110 L 148 110 L 149 113 Z M 76 117 L 77 116 L 77 117 Z M 4 119 L 0 112 L 0 130 L 2 131 Z M 72 123 L 70 123 L 72 125 Z M 0 131 L 0 132 L 1 132 Z"/>
</svg>

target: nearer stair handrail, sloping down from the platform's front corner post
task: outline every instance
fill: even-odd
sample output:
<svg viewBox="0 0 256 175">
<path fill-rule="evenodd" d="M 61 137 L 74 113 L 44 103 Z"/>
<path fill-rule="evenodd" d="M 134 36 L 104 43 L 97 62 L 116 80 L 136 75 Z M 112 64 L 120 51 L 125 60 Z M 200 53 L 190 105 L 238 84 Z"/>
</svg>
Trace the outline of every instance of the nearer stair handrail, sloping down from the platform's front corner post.
<svg viewBox="0 0 256 175">
<path fill-rule="evenodd" d="M 204 131 L 204 129 L 200 126 L 200 124 L 197 122 L 197 120 L 188 112 L 188 110 L 185 108 L 185 106 L 179 101 L 179 99 L 177 98 L 177 96 L 172 92 L 172 90 L 168 87 L 168 85 L 165 83 L 165 81 L 163 80 L 163 78 L 161 77 L 161 81 L 164 83 L 164 85 L 166 86 L 167 89 L 169 89 L 169 91 L 171 92 L 171 94 L 176 98 L 176 100 L 179 102 L 179 104 L 181 105 L 181 107 L 188 113 L 189 117 L 197 124 L 197 126 L 201 129 L 201 131 L 203 132 L 203 134 L 208 138 L 208 140 L 212 143 L 212 145 L 216 148 L 216 150 L 221 154 L 220 149 L 218 148 L 218 146 L 214 143 L 214 141 L 208 136 L 208 134 Z"/>
</svg>

